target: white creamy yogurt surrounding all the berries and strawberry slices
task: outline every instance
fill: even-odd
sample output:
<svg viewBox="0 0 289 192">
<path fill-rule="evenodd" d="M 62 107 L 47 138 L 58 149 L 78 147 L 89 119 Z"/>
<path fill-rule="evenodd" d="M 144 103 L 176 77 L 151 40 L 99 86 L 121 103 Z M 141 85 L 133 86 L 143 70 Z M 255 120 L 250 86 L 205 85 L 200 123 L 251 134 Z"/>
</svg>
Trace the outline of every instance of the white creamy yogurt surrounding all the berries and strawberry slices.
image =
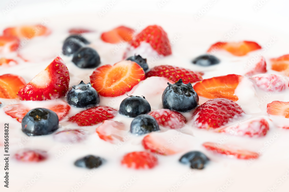
<svg viewBox="0 0 289 192">
<path fill-rule="evenodd" d="M 43 18 L 27 21 L 27 23 L 11 23 L 9 26 L 18 24 L 38 24 Z M 120 25 L 134 28 L 136 33 L 151 24 L 158 24 L 164 28 L 171 42 L 171 56 L 158 57 L 152 54 L 147 61 L 149 68 L 158 65 L 173 65 L 201 71 L 203 79 L 227 74 L 244 75 L 246 65 L 254 62 L 254 58 L 264 56 L 267 62 L 267 73 L 278 74 L 270 70 L 270 58 L 288 54 L 287 44 L 289 37 L 273 29 L 261 28 L 239 23 L 240 29 L 231 37 L 227 33 L 234 28 L 236 23 L 231 21 L 201 19 L 196 22 L 190 15 L 158 15 L 158 14 L 114 14 L 99 18 L 97 14 L 79 14 L 69 16 L 54 16 L 45 18 L 48 20 L 47 27 L 51 29 L 51 35 L 47 37 L 35 37 L 23 45 L 19 54 L 28 60 L 17 60 L 17 55 L 5 54 L 0 57 L 11 57 L 18 64 L 2 66 L 0 75 L 16 74 L 23 77 L 28 83 L 35 75 L 57 56 L 66 63 L 70 72 L 70 83 L 78 85 L 81 80 L 84 83 L 90 81 L 89 76 L 94 69 L 79 69 L 73 64 L 71 56 L 64 56 L 62 44 L 68 37 L 70 28 L 88 28 L 91 33 L 83 36 L 91 42 L 89 45 L 99 53 L 101 65 L 114 64 L 123 59 L 127 50 L 127 43 L 109 44 L 100 39 L 104 31 L 108 31 Z M 0 31 L 8 25 L 1 25 Z M 262 50 L 250 52 L 246 56 L 236 57 L 225 51 L 216 52 L 215 56 L 221 62 L 214 66 L 202 67 L 191 63 L 191 60 L 203 53 L 217 41 L 256 41 L 262 45 Z M 260 54 L 258 54 L 260 52 Z M 249 62 L 250 61 L 250 62 Z M 168 80 L 163 77 L 150 77 L 136 85 L 128 95 L 145 96 L 151 104 L 152 110 L 161 109 L 161 96 L 166 88 Z M 249 138 L 217 134 L 207 130 L 199 130 L 191 125 L 191 113 L 184 113 L 188 123 L 176 130 L 161 128 L 161 132 L 168 138 L 168 145 L 184 149 L 182 153 L 175 155 L 156 155 L 159 163 L 153 169 L 133 170 L 121 165 L 123 155 L 132 151 L 144 151 L 141 145 L 144 136 L 128 135 L 125 142 L 112 144 L 101 140 L 95 129 L 99 126 L 79 127 L 76 123 L 68 121 L 68 118 L 84 110 L 71 107 L 69 114 L 60 121 L 58 131 L 67 129 L 84 130 L 88 135 L 82 142 L 62 143 L 53 139 L 53 134 L 46 136 L 26 136 L 21 131 L 21 123 L 6 115 L 3 107 L 0 109 L 0 125 L 9 123 L 9 152 L 10 152 L 10 191 L 61 191 L 61 192 L 84 192 L 84 191 L 288 191 L 289 188 L 289 141 L 288 130 L 280 128 L 289 124 L 289 120 L 281 117 L 268 116 L 266 105 L 274 100 L 289 101 L 288 89 L 280 93 L 266 93 L 254 87 L 252 81 L 247 78 L 239 83 L 236 89 L 239 100 L 236 101 L 247 114 L 246 118 L 266 117 L 270 130 L 265 137 Z M 114 98 L 100 97 L 101 106 L 109 106 L 119 109 L 121 101 L 126 94 Z M 28 106 L 41 106 L 44 103 L 62 102 L 41 101 L 30 102 L 10 99 L 0 99 L 5 105 L 23 103 Z M 200 98 L 200 104 L 208 99 Z M 113 120 L 125 124 L 128 131 L 133 118 L 118 114 Z M 4 129 L 1 134 L 4 135 Z M 180 134 L 181 133 L 181 134 Z M 155 133 L 157 134 L 157 133 Z M 173 142 L 171 142 L 173 141 Z M 1 137 L 1 145 L 4 139 Z M 207 151 L 202 144 L 204 142 L 218 142 L 220 144 L 239 145 L 244 149 L 255 151 L 260 154 L 258 159 L 240 160 Z M 171 144 L 172 143 L 172 144 Z M 185 146 L 185 147 L 183 147 Z M 48 152 L 49 158 L 39 163 L 25 163 L 12 159 L 12 155 L 22 148 L 40 149 Z M 187 151 L 197 150 L 205 153 L 210 158 L 210 163 L 203 170 L 192 170 L 188 165 L 182 165 L 178 159 Z M 106 162 L 97 169 L 81 169 L 73 165 L 76 159 L 88 154 L 106 159 Z M 4 161 L 0 160 L 1 169 Z M 3 178 L 1 171 L 0 177 Z M 281 178 L 281 179 L 280 179 Z"/>
</svg>

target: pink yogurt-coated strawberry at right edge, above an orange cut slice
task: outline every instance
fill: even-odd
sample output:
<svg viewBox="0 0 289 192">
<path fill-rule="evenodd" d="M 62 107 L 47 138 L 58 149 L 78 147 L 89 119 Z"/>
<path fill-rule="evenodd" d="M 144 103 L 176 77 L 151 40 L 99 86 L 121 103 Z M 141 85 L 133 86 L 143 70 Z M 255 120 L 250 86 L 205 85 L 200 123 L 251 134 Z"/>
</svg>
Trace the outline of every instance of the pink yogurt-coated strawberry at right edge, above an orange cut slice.
<svg viewBox="0 0 289 192">
<path fill-rule="evenodd" d="M 289 81 L 284 75 L 258 74 L 250 78 L 258 88 L 266 92 L 281 92 L 288 89 Z"/>
</svg>

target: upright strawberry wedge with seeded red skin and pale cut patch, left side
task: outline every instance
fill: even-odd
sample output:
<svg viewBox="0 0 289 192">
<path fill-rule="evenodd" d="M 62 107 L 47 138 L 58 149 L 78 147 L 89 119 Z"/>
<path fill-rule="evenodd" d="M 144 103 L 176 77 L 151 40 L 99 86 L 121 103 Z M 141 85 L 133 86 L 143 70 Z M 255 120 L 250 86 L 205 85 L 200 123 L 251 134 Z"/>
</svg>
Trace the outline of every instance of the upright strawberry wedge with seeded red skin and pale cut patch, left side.
<svg viewBox="0 0 289 192">
<path fill-rule="evenodd" d="M 65 96 L 68 84 L 68 69 L 64 61 L 57 56 L 45 70 L 18 91 L 18 96 L 21 100 L 56 99 Z"/>
</svg>

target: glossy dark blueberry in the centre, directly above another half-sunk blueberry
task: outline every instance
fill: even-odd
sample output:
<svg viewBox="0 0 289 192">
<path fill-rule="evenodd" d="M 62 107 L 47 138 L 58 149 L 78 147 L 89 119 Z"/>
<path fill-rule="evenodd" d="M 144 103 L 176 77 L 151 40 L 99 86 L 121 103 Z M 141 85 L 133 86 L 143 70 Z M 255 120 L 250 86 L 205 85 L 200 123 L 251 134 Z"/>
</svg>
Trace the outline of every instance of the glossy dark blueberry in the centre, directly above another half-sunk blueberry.
<svg viewBox="0 0 289 192">
<path fill-rule="evenodd" d="M 141 114 L 147 114 L 150 111 L 151 106 L 144 96 L 131 95 L 121 102 L 118 112 L 128 117 L 136 117 Z"/>
</svg>

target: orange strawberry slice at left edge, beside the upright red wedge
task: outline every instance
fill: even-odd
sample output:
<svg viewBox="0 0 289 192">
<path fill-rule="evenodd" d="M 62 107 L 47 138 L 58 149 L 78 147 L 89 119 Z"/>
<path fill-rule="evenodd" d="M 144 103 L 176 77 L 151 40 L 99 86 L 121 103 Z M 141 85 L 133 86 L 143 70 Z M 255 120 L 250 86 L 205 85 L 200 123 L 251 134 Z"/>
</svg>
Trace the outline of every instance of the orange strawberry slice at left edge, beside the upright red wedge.
<svg viewBox="0 0 289 192">
<path fill-rule="evenodd" d="M 17 92 L 25 85 L 25 81 L 18 75 L 5 74 L 0 76 L 0 98 L 17 98 Z"/>
</svg>

